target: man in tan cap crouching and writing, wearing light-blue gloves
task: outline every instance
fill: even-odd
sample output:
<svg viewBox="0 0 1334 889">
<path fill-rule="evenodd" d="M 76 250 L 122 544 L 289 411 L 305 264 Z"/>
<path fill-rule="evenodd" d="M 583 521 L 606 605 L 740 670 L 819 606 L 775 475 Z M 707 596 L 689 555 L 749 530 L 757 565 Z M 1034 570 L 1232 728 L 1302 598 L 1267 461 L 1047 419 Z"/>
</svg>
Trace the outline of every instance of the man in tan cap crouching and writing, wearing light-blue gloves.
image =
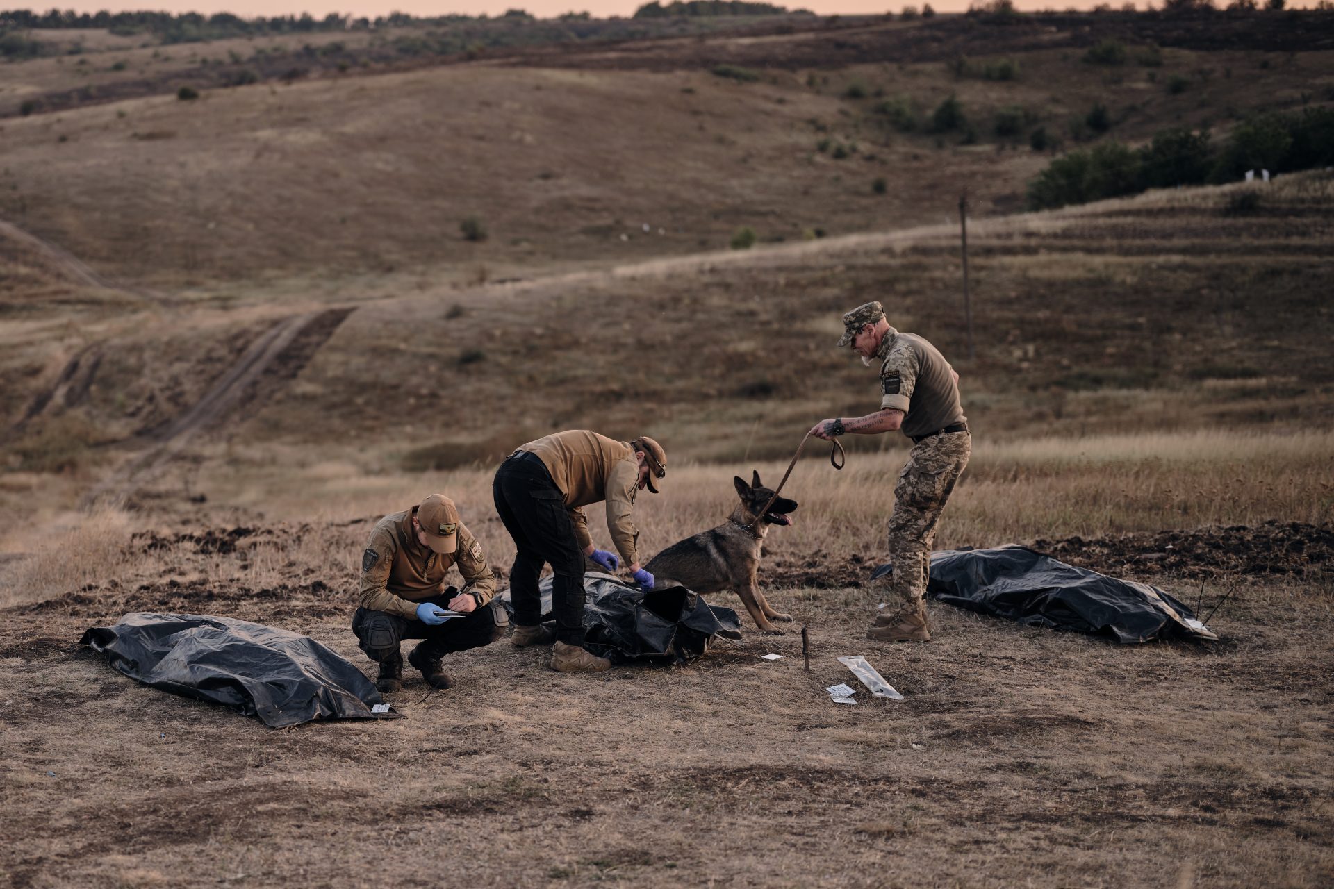
<svg viewBox="0 0 1334 889">
<path fill-rule="evenodd" d="M 451 565 L 463 574 L 463 592 L 444 586 Z M 506 610 L 491 602 L 495 592 L 482 545 L 448 497 L 431 494 L 378 521 L 362 553 L 362 606 L 352 617 L 362 650 L 380 664 L 375 686 L 386 693 L 402 688 L 404 638 L 423 640 L 408 662 L 432 688 L 454 685 L 444 656 L 490 645 L 510 625 Z"/>
</svg>

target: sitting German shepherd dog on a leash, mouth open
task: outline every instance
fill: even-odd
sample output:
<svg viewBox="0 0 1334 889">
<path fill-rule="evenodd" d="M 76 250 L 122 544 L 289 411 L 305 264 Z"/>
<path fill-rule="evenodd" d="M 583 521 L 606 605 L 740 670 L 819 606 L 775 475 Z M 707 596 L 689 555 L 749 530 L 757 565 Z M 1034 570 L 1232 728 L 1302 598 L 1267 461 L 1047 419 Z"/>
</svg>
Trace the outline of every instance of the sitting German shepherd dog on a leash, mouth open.
<svg viewBox="0 0 1334 889">
<path fill-rule="evenodd" d="M 790 621 L 791 614 L 779 614 L 770 608 L 764 593 L 755 582 L 759 570 L 760 544 L 770 525 L 791 525 L 788 513 L 796 510 L 796 501 L 776 498 L 763 516 L 771 488 L 759 481 L 756 472 L 751 484 L 740 476 L 732 477 L 740 504 L 727 521 L 710 530 L 687 537 L 662 550 L 644 565 L 658 585 L 679 584 L 696 593 L 716 593 L 730 589 L 742 597 L 755 625 L 766 633 L 782 633 L 770 621 Z"/>
</svg>

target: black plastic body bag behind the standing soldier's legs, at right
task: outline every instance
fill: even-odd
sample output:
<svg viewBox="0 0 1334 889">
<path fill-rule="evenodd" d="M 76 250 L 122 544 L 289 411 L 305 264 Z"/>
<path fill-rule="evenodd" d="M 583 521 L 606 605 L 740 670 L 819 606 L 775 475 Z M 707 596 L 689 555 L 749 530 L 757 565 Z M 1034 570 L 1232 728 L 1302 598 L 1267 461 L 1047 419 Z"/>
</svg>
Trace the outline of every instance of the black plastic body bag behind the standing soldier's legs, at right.
<svg viewBox="0 0 1334 889">
<path fill-rule="evenodd" d="M 871 578 L 890 570 L 882 565 Z M 927 596 L 1026 626 L 1109 636 L 1123 644 L 1218 638 L 1190 608 L 1157 586 L 1075 568 L 1027 546 L 931 553 Z"/>
</svg>

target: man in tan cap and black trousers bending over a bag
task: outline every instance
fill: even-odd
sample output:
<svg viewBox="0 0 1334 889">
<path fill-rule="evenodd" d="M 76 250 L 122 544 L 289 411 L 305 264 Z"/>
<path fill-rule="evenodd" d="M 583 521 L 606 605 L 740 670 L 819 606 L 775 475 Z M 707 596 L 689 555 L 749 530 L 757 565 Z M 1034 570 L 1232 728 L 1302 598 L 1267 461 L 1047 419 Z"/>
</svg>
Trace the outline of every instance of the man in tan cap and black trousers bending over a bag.
<svg viewBox="0 0 1334 889">
<path fill-rule="evenodd" d="M 611 662 L 584 649 L 584 556 L 608 572 L 620 566 L 615 553 L 596 549 L 588 534 L 583 506 L 606 501 L 607 529 L 620 558 L 643 589 L 654 576 L 639 564 L 630 518 L 635 493 L 646 486 L 658 493 L 667 474 L 667 456 L 656 441 L 640 436 L 615 441 L 586 429 L 558 432 L 530 441 L 506 457 L 496 470 L 492 493 L 496 512 L 514 537 L 519 553 L 510 572 L 514 636 L 523 648 L 555 641 L 551 669 L 563 673 L 604 670 Z M 555 578 L 551 610 L 555 636 L 542 625 L 538 574 L 548 562 Z"/>
</svg>

